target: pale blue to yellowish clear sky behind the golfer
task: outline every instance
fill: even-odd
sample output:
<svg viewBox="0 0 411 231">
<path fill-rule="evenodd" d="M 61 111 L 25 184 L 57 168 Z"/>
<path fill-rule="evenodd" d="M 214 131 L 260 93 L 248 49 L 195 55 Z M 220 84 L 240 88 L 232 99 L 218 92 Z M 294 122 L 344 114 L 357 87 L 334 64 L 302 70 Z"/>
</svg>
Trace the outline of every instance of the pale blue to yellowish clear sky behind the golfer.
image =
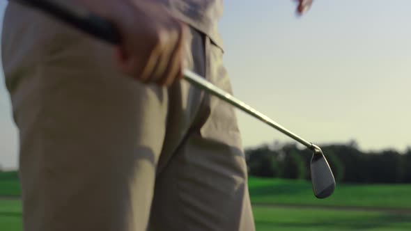
<svg viewBox="0 0 411 231">
<path fill-rule="evenodd" d="M 6 1 L 1 1 L 1 22 Z M 411 146 L 411 1 L 226 0 L 219 24 L 234 95 L 313 143 Z M 3 77 L 0 165 L 17 168 Z M 243 145 L 292 141 L 238 111 Z"/>
</svg>

